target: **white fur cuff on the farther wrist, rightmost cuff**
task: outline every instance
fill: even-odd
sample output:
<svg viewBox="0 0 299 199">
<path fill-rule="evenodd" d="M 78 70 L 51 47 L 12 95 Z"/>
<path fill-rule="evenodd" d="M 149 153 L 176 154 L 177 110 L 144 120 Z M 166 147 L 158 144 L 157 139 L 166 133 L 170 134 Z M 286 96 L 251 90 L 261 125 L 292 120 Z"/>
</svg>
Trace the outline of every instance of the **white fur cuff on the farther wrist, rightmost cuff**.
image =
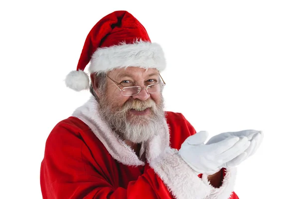
<svg viewBox="0 0 299 199">
<path fill-rule="evenodd" d="M 214 188 L 208 182 L 207 175 L 203 174 L 202 180 L 211 187 L 211 193 L 205 199 L 229 199 L 234 191 L 236 176 L 237 168 L 226 169 L 222 186 L 220 188 Z"/>
</svg>

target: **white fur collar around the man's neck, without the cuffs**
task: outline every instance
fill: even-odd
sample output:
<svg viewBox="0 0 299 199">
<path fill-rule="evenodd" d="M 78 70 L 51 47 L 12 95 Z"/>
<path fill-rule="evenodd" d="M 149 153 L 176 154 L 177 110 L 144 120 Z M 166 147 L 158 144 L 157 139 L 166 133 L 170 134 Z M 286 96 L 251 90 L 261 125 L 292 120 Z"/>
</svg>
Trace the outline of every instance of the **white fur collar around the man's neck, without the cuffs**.
<svg viewBox="0 0 299 199">
<path fill-rule="evenodd" d="M 92 96 L 84 105 L 77 108 L 72 116 L 87 124 L 93 133 L 104 144 L 110 155 L 117 161 L 131 166 L 145 165 L 139 160 L 133 149 L 113 133 L 110 127 L 98 114 L 97 101 Z M 164 127 L 145 143 L 148 161 L 159 156 L 169 146 L 169 131 L 164 121 Z"/>
</svg>

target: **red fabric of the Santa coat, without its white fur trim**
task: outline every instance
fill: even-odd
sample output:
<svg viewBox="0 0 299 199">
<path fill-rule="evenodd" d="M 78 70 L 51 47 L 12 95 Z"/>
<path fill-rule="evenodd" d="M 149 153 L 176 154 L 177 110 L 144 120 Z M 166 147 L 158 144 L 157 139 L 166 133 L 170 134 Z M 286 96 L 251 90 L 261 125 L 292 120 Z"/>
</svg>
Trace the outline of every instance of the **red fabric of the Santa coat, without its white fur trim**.
<svg viewBox="0 0 299 199">
<path fill-rule="evenodd" d="M 195 130 L 180 113 L 167 112 L 166 119 L 170 146 L 179 149 Z M 117 162 L 76 117 L 59 122 L 49 134 L 40 184 L 43 199 L 173 198 L 148 164 L 134 167 Z M 231 199 L 238 197 L 233 193 Z"/>
</svg>

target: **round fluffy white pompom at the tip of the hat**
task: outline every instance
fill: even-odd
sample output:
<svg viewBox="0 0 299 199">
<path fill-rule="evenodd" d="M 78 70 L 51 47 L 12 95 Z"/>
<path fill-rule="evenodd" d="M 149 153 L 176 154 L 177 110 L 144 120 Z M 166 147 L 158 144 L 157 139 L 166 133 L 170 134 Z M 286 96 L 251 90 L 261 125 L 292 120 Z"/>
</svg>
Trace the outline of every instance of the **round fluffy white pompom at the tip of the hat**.
<svg viewBox="0 0 299 199">
<path fill-rule="evenodd" d="M 75 91 L 87 90 L 89 89 L 89 78 L 82 70 L 71 71 L 65 78 L 65 84 Z"/>
</svg>

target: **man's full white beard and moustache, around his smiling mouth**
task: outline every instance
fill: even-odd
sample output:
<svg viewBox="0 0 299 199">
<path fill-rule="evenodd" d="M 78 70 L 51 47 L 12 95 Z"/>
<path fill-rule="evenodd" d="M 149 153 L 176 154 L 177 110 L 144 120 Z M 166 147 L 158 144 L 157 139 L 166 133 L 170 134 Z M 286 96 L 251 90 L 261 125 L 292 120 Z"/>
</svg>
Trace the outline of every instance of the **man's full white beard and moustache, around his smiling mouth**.
<svg viewBox="0 0 299 199">
<path fill-rule="evenodd" d="M 153 135 L 163 128 L 165 121 L 164 100 L 156 104 L 153 100 L 131 100 L 122 107 L 114 107 L 106 97 L 99 102 L 99 114 L 111 127 L 111 129 L 122 139 L 133 143 L 142 143 L 149 140 Z M 148 116 L 135 115 L 128 118 L 128 111 L 131 108 L 151 107 L 151 114 Z"/>
</svg>

